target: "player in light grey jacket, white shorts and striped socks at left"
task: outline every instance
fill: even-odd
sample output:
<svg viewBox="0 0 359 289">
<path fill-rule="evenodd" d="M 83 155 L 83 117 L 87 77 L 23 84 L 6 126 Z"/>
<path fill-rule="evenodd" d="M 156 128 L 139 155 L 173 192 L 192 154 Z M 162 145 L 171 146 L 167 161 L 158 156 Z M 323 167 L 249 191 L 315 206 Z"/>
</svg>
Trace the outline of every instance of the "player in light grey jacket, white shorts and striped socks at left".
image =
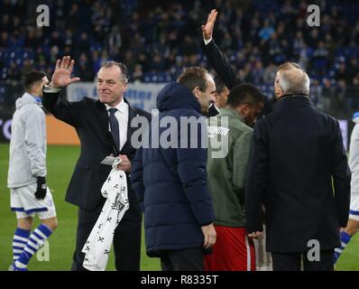
<svg viewBox="0 0 359 289">
<path fill-rule="evenodd" d="M 9 268 L 14 271 L 27 271 L 32 256 L 58 226 L 51 191 L 46 185 L 46 122 L 41 98 L 42 87 L 48 82 L 40 71 L 24 76 L 25 93 L 16 100 L 12 122 L 7 186 L 11 191 L 11 210 L 17 218 L 14 263 Z M 41 225 L 30 235 L 35 214 Z"/>
</svg>

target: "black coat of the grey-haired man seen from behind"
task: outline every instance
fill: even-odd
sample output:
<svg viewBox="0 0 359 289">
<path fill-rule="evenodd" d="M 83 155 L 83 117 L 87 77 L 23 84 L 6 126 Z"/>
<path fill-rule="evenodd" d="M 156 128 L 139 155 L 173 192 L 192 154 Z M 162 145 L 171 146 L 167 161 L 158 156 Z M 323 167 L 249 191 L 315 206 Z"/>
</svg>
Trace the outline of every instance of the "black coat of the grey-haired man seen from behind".
<svg viewBox="0 0 359 289">
<path fill-rule="evenodd" d="M 317 239 L 321 250 L 340 246 L 350 171 L 334 117 L 305 96 L 281 98 L 254 126 L 247 173 L 246 231 L 262 230 L 263 202 L 268 251 L 305 252 L 310 239 Z"/>
</svg>

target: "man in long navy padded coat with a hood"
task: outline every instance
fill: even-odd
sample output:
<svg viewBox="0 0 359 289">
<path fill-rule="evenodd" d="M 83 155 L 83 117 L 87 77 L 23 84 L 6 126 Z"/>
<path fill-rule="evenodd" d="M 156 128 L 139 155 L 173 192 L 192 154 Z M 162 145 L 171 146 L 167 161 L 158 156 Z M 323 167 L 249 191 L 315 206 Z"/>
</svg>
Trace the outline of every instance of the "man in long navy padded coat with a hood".
<svg viewBox="0 0 359 289">
<path fill-rule="evenodd" d="M 162 89 L 158 121 L 171 124 L 170 142 L 178 145 L 161 143 L 168 125 L 150 125 L 144 135 L 147 143 L 133 160 L 131 182 L 144 211 L 146 252 L 161 258 L 163 271 L 203 270 L 204 250 L 216 242 L 203 146 L 207 126 L 200 117 L 215 91 L 212 77 L 198 67 L 185 70 Z M 195 121 L 194 126 L 188 127 L 184 119 Z M 197 145 L 192 146 L 193 141 Z"/>
</svg>

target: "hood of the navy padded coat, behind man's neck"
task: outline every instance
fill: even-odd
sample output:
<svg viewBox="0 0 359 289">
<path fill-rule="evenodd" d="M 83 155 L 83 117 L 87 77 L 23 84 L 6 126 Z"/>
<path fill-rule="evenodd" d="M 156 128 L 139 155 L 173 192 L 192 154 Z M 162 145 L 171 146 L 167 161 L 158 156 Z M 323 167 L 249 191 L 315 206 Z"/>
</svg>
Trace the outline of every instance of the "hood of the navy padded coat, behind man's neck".
<svg viewBox="0 0 359 289">
<path fill-rule="evenodd" d="M 160 112 L 176 108 L 188 108 L 201 113 L 199 102 L 193 93 L 178 82 L 170 82 L 160 91 L 157 97 L 157 108 Z"/>
</svg>

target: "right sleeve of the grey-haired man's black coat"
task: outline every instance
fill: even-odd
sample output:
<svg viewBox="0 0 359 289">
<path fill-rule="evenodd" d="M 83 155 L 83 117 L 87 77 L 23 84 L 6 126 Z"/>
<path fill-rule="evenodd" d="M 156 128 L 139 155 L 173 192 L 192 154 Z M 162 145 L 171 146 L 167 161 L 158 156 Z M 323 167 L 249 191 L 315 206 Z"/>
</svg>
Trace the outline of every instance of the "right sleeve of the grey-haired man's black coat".
<svg viewBox="0 0 359 289">
<path fill-rule="evenodd" d="M 336 210 L 339 217 L 339 226 L 341 228 L 345 228 L 349 217 L 351 174 L 346 159 L 340 126 L 337 121 L 335 124 L 334 134 L 334 162 L 332 167 L 333 186 L 335 192 Z"/>
</svg>

